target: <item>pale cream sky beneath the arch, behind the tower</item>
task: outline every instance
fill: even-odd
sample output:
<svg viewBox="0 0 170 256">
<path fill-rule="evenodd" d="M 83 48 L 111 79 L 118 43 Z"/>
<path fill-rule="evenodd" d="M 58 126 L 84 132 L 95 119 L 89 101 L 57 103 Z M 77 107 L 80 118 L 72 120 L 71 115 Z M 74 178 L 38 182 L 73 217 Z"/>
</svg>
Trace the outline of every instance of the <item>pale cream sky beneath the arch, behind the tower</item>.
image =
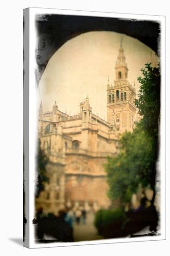
<svg viewBox="0 0 170 256">
<path fill-rule="evenodd" d="M 43 111 L 52 109 L 56 101 L 59 110 L 67 114 L 79 113 L 79 103 L 88 95 L 92 112 L 107 120 L 107 80 L 114 84 L 115 63 L 120 40 L 129 69 L 128 80 L 136 84 L 140 69 L 155 58 L 148 46 L 124 34 L 88 32 L 67 41 L 53 54 L 39 82 L 39 101 Z"/>
</svg>

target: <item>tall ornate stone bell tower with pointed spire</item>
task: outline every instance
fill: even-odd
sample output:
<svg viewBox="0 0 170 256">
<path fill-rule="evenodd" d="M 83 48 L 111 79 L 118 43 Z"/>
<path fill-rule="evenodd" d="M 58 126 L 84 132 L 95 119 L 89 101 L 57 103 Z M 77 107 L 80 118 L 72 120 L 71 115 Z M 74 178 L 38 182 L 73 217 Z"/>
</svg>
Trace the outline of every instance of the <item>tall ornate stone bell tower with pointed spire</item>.
<svg viewBox="0 0 170 256">
<path fill-rule="evenodd" d="M 114 86 L 110 86 L 109 82 L 107 84 L 107 121 L 112 123 L 112 120 L 114 120 L 116 131 L 124 133 L 126 130 L 133 130 L 137 109 L 134 104 L 136 98 L 135 88 L 127 80 L 128 67 L 122 46 L 122 38 L 115 64 L 115 75 Z"/>
</svg>

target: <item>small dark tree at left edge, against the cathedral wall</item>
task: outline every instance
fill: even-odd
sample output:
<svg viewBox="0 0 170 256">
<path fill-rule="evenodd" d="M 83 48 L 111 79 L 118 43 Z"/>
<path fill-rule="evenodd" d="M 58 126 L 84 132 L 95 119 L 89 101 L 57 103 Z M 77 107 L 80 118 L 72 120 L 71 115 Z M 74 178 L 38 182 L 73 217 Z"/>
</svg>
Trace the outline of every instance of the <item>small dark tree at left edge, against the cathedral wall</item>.
<svg viewBox="0 0 170 256">
<path fill-rule="evenodd" d="M 37 191 L 36 197 L 39 197 L 41 191 L 44 190 L 44 183 L 48 182 L 46 165 L 49 162 L 49 158 L 45 154 L 44 150 L 41 149 L 41 141 L 38 141 L 38 152 L 37 152 Z"/>
</svg>

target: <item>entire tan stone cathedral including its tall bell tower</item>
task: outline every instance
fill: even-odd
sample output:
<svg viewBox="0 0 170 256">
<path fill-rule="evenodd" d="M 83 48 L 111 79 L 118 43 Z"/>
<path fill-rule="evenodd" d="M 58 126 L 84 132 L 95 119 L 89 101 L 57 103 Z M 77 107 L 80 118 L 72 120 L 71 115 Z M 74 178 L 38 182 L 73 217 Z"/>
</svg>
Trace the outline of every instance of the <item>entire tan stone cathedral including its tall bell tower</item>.
<svg viewBox="0 0 170 256">
<path fill-rule="evenodd" d="M 128 81 L 122 43 L 115 65 L 116 80 L 106 85 L 107 121 L 93 114 L 89 98 L 79 104 L 79 114 L 67 115 L 55 104 L 39 108 L 39 139 L 49 157 L 49 182 L 36 199 L 36 208 L 58 214 L 60 209 L 83 206 L 108 208 L 107 156 L 118 154 L 119 134 L 132 131 L 137 121 L 136 91 Z"/>
</svg>

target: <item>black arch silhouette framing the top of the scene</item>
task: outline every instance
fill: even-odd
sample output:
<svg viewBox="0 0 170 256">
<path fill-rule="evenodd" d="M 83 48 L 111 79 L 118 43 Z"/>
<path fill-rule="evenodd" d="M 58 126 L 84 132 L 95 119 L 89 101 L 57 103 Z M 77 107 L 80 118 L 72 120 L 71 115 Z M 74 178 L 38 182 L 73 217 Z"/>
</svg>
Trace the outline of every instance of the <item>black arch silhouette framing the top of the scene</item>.
<svg viewBox="0 0 170 256">
<path fill-rule="evenodd" d="M 39 19 L 38 16 L 36 19 L 38 34 L 36 49 L 37 82 L 39 82 L 48 61 L 59 47 L 67 40 L 90 31 L 111 31 L 126 34 L 140 40 L 156 54 L 158 52 L 160 27 L 159 23 L 155 21 L 61 14 L 45 14 L 44 17 L 44 20 Z"/>
</svg>

